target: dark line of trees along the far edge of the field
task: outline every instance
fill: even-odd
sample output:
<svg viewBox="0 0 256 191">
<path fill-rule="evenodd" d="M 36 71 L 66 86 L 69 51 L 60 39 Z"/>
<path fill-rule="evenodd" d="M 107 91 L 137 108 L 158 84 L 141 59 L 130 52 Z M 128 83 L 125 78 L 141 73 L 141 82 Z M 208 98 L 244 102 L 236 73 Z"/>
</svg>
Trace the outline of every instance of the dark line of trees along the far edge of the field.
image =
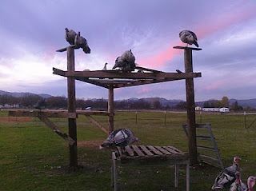
<svg viewBox="0 0 256 191">
<path fill-rule="evenodd" d="M 8 104 L 10 107 L 14 105 L 19 105 L 20 108 L 33 108 L 42 97 L 36 94 L 28 94 L 22 97 L 14 97 L 8 94 L 0 95 L 0 105 Z M 46 100 L 46 108 L 48 109 L 66 109 L 67 108 L 67 98 L 62 96 L 48 97 Z M 107 100 L 100 99 L 81 99 L 76 100 L 76 107 L 78 109 L 86 109 L 91 107 L 91 109 L 107 109 Z M 227 107 L 231 110 L 251 110 L 250 107 L 243 108 L 238 105 L 238 101 L 230 104 L 229 98 L 224 96 L 221 100 L 209 100 L 204 101 L 203 107 Z M 122 100 L 114 101 L 115 109 L 186 109 L 186 101 L 179 101 L 176 105 L 162 105 L 160 101 L 145 101 L 141 98 L 138 100 Z"/>
</svg>

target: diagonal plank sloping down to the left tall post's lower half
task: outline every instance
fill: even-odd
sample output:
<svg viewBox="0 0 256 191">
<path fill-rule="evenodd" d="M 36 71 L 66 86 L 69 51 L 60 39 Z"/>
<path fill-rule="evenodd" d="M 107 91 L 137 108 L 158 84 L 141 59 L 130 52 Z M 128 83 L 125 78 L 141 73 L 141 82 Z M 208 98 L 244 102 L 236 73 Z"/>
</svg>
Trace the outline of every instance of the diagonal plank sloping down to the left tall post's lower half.
<svg viewBox="0 0 256 191">
<path fill-rule="evenodd" d="M 48 126 L 50 129 L 52 129 L 54 131 L 54 133 L 57 133 L 58 136 L 62 137 L 66 141 L 69 141 L 70 145 L 74 145 L 75 141 L 72 139 L 72 137 L 70 137 L 66 133 L 62 133 L 62 131 L 60 129 L 58 129 L 58 127 L 52 121 L 50 121 L 46 116 L 44 116 L 43 114 L 40 114 L 40 115 L 38 115 L 38 118 L 42 122 L 44 122 L 46 124 L 46 126 Z"/>
</svg>

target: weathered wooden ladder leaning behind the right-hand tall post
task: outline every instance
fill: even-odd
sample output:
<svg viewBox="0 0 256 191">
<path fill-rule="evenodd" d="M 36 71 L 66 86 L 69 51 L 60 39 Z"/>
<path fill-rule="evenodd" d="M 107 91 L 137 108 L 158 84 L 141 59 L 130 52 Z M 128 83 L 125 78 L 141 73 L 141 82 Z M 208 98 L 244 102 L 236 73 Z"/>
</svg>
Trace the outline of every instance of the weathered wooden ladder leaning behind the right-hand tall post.
<svg viewBox="0 0 256 191">
<path fill-rule="evenodd" d="M 186 136 L 188 137 L 187 125 L 182 125 Z M 197 148 L 199 161 L 223 169 L 222 158 L 219 153 L 217 141 L 211 130 L 210 123 L 197 124 Z"/>
</svg>

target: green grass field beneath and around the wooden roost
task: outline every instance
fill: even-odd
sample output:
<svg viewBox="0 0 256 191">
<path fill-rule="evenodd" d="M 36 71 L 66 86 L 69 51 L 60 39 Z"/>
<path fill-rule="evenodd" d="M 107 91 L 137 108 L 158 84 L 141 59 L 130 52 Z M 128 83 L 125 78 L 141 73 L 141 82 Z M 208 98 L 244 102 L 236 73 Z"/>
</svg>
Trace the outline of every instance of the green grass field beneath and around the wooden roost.
<svg viewBox="0 0 256 191">
<path fill-rule="evenodd" d="M 0 112 L 0 117 L 7 113 Z M 255 115 L 246 117 L 247 124 Z M 106 117 L 95 117 L 107 126 Z M 197 116 L 199 122 L 200 117 Z M 65 119 L 54 122 L 67 132 Z M 202 116 L 202 123 L 212 125 L 224 165 L 232 157 L 242 157 L 242 180 L 256 175 L 256 124 L 244 128 L 243 115 Z M 115 129 L 130 128 L 142 145 L 174 145 L 187 150 L 182 124 L 186 113 L 140 112 L 115 114 Z M 52 133 L 41 121 L 0 121 L 0 190 L 111 190 L 110 151 L 98 145 L 106 138 L 85 117 L 78 118 L 78 172 L 69 172 L 69 149 L 66 141 Z M 185 170 L 180 172 L 180 184 L 174 189 L 174 168 L 168 164 L 125 164 L 119 169 L 121 190 L 185 190 Z M 210 190 L 220 169 L 209 165 L 191 168 L 191 190 Z M 154 177 L 154 178 L 153 178 Z"/>
</svg>

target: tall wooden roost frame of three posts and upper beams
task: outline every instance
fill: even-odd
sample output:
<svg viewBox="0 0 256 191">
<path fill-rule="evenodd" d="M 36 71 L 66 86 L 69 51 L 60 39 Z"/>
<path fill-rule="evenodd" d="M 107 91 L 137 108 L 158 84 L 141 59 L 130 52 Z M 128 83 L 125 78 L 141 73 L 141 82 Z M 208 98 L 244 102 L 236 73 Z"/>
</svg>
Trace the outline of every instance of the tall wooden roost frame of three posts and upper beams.
<svg viewBox="0 0 256 191">
<path fill-rule="evenodd" d="M 174 46 L 174 49 L 184 50 L 184 73 L 166 73 L 142 67 L 136 67 L 136 69 L 142 70 L 140 72 L 124 72 L 122 70 L 75 71 L 74 48 L 72 46 L 68 46 L 64 49 L 57 50 L 58 52 L 67 52 L 67 70 L 63 71 L 53 68 L 53 74 L 67 78 L 68 113 L 76 113 L 75 80 L 104 87 L 109 91 L 108 117 L 110 133 L 114 130 L 114 89 L 185 79 L 190 164 L 194 165 L 198 163 L 194 110 L 194 78 L 201 77 L 201 73 L 193 72 L 192 50 L 202 49 L 183 46 Z M 68 121 L 69 136 L 75 141 L 74 144 L 70 145 L 70 166 L 75 167 L 78 165 L 76 118 L 69 117 Z"/>
</svg>

